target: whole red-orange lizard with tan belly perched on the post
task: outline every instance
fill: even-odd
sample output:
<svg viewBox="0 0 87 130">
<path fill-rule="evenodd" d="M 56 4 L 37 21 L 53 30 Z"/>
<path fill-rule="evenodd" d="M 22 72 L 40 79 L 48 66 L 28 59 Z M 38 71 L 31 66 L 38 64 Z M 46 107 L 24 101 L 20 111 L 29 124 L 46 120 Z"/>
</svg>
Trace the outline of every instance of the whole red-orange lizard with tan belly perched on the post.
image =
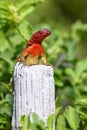
<svg viewBox="0 0 87 130">
<path fill-rule="evenodd" d="M 41 55 L 42 61 L 47 65 L 42 41 L 50 34 L 51 32 L 46 28 L 35 32 L 28 41 L 26 48 L 20 54 L 18 61 L 23 62 L 25 65 L 39 64 L 39 56 Z"/>
</svg>

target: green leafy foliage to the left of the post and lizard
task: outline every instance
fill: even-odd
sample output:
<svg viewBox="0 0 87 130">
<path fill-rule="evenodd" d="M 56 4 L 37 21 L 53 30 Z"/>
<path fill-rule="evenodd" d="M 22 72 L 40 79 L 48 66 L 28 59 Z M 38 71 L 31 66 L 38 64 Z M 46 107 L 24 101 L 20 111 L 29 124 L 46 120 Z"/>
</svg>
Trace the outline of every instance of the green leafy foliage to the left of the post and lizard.
<svg viewBox="0 0 87 130">
<path fill-rule="evenodd" d="M 22 0 L 15 5 L 0 1 L 0 130 L 11 130 L 13 86 L 10 82 L 13 68 L 19 52 L 32 33 L 32 26 L 24 18 L 39 2 L 43 0 Z M 28 120 L 24 120 L 26 125 Z"/>
</svg>

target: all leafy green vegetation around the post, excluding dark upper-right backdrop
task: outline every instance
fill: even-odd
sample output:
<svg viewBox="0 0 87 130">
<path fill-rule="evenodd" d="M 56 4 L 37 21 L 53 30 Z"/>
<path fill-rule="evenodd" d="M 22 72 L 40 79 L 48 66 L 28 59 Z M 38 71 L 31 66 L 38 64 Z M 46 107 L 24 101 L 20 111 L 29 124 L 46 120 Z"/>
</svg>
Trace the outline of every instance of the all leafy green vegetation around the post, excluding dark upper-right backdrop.
<svg viewBox="0 0 87 130">
<path fill-rule="evenodd" d="M 48 27 L 52 35 L 43 46 L 48 62 L 55 66 L 56 111 L 48 117 L 47 127 L 33 114 L 21 119 L 21 130 L 52 130 L 55 120 L 56 130 L 87 129 L 87 57 L 81 54 L 81 45 L 87 43 L 87 24 L 80 21 L 69 30 L 39 24 L 33 29 L 27 21 L 36 4 L 43 0 L 22 0 L 7 4 L 0 1 L 0 130 L 11 130 L 13 106 L 13 86 L 10 81 L 17 58 L 26 46 L 33 31 Z"/>
</svg>

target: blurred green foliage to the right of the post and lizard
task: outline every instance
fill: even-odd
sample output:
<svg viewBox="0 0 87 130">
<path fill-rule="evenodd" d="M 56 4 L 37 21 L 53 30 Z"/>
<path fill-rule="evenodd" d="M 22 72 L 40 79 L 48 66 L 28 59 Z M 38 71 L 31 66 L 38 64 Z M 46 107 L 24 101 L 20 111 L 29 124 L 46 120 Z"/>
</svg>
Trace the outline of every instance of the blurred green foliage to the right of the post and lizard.
<svg viewBox="0 0 87 130">
<path fill-rule="evenodd" d="M 87 57 L 79 58 L 77 50 L 84 41 L 87 43 L 86 26 L 87 24 L 76 22 L 71 27 L 71 33 L 52 29 L 50 47 L 44 45 L 49 62 L 56 67 L 56 107 L 64 108 L 57 118 L 57 129 L 87 128 Z"/>
</svg>

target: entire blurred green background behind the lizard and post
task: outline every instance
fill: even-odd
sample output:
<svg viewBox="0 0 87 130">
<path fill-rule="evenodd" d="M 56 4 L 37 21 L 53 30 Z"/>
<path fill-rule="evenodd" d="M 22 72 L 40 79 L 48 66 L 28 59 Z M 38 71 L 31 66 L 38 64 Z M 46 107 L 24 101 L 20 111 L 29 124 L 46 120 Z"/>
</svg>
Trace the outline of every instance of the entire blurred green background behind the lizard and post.
<svg viewBox="0 0 87 130">
<path fill-rule="evenodd" d="M 32 130 L 52 130 L 54 118 L 56 130 L 87 130 L 86 0 L 0 0 L 0 130 L 11 130 L 14 66 L 33 32 L 44 27 L 52 32 L 43 47 L 55 66 L 58 111 L 48 128 L 34 122 Z"/>
</svg>

